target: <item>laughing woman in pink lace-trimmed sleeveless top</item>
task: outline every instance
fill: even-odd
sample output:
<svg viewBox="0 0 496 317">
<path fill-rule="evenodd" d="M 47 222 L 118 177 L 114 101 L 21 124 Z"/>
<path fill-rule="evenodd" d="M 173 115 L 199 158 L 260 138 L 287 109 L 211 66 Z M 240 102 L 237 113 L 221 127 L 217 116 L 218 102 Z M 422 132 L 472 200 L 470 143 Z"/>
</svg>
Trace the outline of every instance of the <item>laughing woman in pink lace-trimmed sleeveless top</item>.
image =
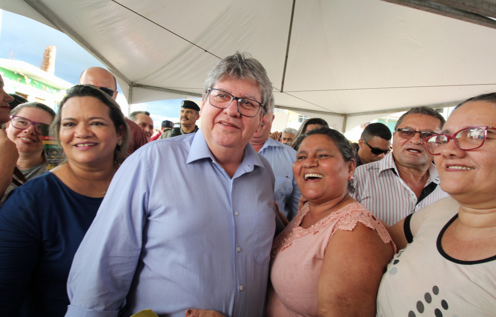
<svg viewBox="0 0 496 317">
<path fill-rule="evenodd" d="M 354 170 L 341 133 L 321 128 L 303 136 L 293 173 L 308 203 L 272 245 L 267 317 L 375 316 L 395 247 L 380 221 L 349 195 Z"/>
</svg>

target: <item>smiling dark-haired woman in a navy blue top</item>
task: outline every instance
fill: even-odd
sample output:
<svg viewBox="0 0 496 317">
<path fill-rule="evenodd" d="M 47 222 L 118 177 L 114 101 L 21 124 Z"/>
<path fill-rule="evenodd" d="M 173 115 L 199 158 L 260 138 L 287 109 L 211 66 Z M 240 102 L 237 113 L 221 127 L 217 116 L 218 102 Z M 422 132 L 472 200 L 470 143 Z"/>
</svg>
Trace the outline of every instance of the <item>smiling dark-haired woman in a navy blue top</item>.
<svg viewBox="0 0 496 317">
<path fill-rule="evenodd" d="M 0 209 L 0 316 L 64 316 L 72 258 L 125 159 L 124 115 L 93 86 L 67 91 L 51 129 L 66 161 Z"/>
</svg>

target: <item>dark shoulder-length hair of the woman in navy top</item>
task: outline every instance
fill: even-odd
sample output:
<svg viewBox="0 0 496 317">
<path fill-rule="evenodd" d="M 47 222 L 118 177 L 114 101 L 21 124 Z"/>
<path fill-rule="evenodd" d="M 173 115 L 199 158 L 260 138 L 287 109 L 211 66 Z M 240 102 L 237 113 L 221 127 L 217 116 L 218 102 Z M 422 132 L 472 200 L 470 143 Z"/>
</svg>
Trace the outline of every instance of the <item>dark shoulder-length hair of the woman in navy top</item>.
<svg viewBox="0 0 496 317">
<path fill-rule="evenodd" d="M 76 85 L 67 90 L 67 94 L 62 99 L 57 116 L 50 126 L 50 134 L 57 136 L 57 140 L 60 143 L 60 129 L 61 129 L 61 114 L 62 107 L 65 102 L 72 97 L 93 97 L 101 101 L 104 105 L 109 107 L 109 117 L 114 123 L 114 128 L 116 132 L 124 132 L 122 145 L 117 145 L 114 150 L 114 165 L 119 166 L 124 159 L 127 157 L 127 147 L 129 146 L 129 126 L 125 122 L 124 114 L 121 111 L 119 104 L 112 99 L 109 95 L 104 93 L 98 88 L 91 85 Z"/>
</svg>

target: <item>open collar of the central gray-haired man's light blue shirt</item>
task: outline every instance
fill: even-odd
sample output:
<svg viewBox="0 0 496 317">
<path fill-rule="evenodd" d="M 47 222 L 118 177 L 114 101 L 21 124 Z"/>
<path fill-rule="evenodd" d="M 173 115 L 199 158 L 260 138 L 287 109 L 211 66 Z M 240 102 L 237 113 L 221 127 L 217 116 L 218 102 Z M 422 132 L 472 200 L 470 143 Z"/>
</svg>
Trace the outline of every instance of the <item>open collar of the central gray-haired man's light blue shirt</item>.
<svg viewBox="0 0 496 317">
<path fill-rule="evenodd" d="M 208 147 L 207 141 L 203 136 L 201 128 L 193 136 L 193 141 L 191 141 L 191 148 L 189 149 L 189 153 L 186 159 L 186 164 L 189 164 L 198 159 L 211 159 L 215 161 L 215 157 L 210 151 Z M 255 152 L 251 144 L 248 144 L 245 147 L 245 153 L 243 154 L 243 161 L 240 164 L 240 167 L 243 167 L 245 170 L 253 170 L 253 166 L 257 165 L 265 169 L 265 165 L 262 163 L 260 156 Z M 240 169 L 238 167 L 238 169 Z"/>
</svg>

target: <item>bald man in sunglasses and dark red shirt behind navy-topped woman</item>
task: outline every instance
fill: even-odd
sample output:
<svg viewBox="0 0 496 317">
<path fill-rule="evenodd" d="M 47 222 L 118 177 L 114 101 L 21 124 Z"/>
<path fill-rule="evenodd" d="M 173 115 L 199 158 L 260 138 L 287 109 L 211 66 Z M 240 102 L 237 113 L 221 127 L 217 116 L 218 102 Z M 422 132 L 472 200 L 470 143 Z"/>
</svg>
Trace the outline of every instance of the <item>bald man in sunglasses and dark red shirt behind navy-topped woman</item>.
<svg viewBox="0 0 496 317">
<path fill-rule="evenodd" d="M 117 98 L 118 91 L 116 78 L 105 68 L 86 68 L 79 77 L 79 84 L 95 86 L 112 97 L 114 100 Z M 127 154 L 131 155 L 141 146 L 147 144 L 148 140 L 146 139 L 145 132 L 141 130 L 139 125 L 127 118 L 125 118 L 125 122 L 129 126 L 129 132 L 131 133 L 131 137 L 129 138 L 129 148 L 127 150 Z"/>
</svg>

